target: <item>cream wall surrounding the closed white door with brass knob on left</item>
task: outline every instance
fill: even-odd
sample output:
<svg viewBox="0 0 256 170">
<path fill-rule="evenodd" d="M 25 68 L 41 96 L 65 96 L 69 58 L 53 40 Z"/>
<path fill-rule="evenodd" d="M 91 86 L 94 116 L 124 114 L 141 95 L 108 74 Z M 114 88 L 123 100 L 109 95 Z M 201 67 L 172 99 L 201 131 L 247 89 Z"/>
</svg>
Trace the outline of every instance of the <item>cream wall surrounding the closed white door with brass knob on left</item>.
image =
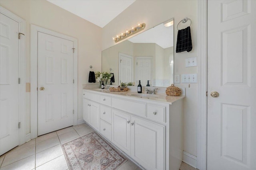
<svg viewBox="0 0 256 170">
<path fill-rule="evenodd" d="M 46 0 L 1 0 L 0 5 L 26 21 L 26 82 L 30 82 L 30 24 L 78 39 L 78 119 L 82 119 L 82 84 L 89 66 L 101 70 L 102 28 Z M 30 132 L 30 92 L 26 93 L 26 133 Z"/>
</svg>

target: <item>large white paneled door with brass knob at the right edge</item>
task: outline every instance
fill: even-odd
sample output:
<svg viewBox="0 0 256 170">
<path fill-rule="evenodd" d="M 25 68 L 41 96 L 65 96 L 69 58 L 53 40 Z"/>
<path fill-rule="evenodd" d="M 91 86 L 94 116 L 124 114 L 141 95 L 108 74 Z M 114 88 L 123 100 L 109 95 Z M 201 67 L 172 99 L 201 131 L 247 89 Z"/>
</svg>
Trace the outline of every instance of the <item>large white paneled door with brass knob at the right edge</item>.
<svg viewBox="0 0 256 170">
<path fill-rule="evenodd" d="M 207 170 L 256 170 L 255 64 L 256 1 L 209 0 Z"/>
</svg>

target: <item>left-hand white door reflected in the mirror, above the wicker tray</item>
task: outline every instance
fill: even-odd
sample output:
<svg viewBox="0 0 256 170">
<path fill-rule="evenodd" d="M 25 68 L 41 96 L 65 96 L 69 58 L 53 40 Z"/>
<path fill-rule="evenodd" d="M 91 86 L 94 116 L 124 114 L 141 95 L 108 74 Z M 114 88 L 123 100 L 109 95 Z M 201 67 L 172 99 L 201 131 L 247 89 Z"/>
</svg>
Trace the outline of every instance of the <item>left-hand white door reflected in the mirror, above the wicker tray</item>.
<svg viewBox="0 0 256 170">
<path fill-rule="evenodd" d="M 132 56 L 119 53 L 119 84 L 132 81 Z"/>
</svg>

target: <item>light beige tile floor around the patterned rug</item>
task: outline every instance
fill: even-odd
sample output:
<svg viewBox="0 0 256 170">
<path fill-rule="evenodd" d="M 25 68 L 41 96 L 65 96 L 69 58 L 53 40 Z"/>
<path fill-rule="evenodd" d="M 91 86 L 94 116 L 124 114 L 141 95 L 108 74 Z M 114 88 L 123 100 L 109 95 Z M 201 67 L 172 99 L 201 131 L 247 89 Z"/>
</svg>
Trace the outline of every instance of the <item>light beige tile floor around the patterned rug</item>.
<svg viewBox="0 0 256 170">
<path fill-rule="evenodd" d="M 32 139 L 0 156 L 1 170 L 68 170 L 61 144 L 94 130 L 86 123 L 67 127 Z M 118 170 L 141 170 L 131 160 Z"/>
</svg>

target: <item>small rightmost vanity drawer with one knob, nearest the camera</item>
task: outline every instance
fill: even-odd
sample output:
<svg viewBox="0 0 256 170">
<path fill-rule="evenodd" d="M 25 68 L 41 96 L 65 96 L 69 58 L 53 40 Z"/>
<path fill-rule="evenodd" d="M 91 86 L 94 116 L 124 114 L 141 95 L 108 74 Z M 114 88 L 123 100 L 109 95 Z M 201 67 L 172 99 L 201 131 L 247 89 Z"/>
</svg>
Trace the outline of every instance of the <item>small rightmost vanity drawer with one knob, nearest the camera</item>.
<svg viewBox="0 0 256 170">
<path fill-rule="evenodd" d="M 154 121 L 165 123 L 165 107 L 148 104 L 147 117 Z"/>
</svg>

